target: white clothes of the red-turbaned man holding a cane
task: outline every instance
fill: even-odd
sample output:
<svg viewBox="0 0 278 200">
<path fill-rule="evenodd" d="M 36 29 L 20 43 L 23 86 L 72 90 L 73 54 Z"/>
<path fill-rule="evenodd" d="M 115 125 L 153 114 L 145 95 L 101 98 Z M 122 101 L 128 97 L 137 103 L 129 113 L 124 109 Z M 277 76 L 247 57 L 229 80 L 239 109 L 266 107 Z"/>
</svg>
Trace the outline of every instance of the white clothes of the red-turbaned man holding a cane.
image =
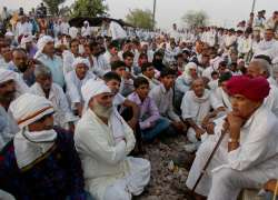
<svg viewBox="0 0 278 200">
<path fill-rule="evenodd" d="M 192 189 L 216 142 L 224 120 L 197 151 L 187 186 Z M 236 200 L 240 189 L 257 188 L 278 177 L 278 121 L 261 106 L 240 129 L 240 146 L 228 152 L 228 134 L 214 156 L 196 192 L 209 194 L 209 200 Z M 212 183 L 212 184 L 211 184 Z M 212 186 L 212 188 L 211 188 Z"/>
</svg>

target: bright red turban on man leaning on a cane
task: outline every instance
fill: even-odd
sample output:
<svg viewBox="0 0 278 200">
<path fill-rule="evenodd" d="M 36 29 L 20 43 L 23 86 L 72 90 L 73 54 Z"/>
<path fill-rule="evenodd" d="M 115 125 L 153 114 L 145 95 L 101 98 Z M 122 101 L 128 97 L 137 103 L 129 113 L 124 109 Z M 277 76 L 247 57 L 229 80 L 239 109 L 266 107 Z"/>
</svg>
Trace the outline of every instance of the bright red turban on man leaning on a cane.
<svg viewBox="0 0 278 200">
<path fill-rule="evenodd" d="M 261 101 L 268 96 L 270 87 L 262 77 L 235 76 L 227 82 L 227 90 L 230 96 L 241 94 L 252 101 Z"/>
</svg>

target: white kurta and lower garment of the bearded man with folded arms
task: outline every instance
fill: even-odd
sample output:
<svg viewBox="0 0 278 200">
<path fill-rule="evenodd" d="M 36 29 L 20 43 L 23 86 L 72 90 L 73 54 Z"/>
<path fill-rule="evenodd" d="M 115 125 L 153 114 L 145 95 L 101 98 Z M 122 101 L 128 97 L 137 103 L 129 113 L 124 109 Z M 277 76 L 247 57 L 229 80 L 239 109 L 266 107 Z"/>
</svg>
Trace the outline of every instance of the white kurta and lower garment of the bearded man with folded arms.
<svg viewBox="0 0 278 200">
<path fill-rule="evenodd" d="M 116 142 L 111 120 L 105 124 L 90 109 L 76 128 L 86 189 L 97 200 L 131 200 L 150 179 L 149 161 L 127 157 L 136 143 L 133 131 L 123 120 L 117 128 L 122 129 L 126 141 Z"/>
</svg>

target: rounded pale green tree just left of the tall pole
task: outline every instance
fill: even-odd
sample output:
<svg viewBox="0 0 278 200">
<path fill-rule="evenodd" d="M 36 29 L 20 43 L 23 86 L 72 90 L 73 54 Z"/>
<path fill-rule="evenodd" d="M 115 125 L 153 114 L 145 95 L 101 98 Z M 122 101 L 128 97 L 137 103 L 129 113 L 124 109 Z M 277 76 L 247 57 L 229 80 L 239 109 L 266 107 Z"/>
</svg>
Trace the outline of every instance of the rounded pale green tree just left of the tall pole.
<svg viewBox="0 0 278 200">
<path fill-rule="evenodd" d="M 150 10 L 133 9 L 126 16 L 126 21 L 135 27 L 152 29 L 152 12 Z"/>
</svg>

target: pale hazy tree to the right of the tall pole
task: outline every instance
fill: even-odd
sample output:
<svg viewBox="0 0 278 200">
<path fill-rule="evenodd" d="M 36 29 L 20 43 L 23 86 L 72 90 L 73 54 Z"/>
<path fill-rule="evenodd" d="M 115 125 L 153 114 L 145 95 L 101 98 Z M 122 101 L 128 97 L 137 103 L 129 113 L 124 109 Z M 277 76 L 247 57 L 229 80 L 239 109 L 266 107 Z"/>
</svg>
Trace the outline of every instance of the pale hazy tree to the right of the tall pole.
<svg viewBox="0 0 278 200">
<path fill-rule="evenodd" d="M 205 11 L 190 10 L 182 17 L 182 21 L 186 22 L 189 29 L 206 27 L 208 14 Z"/>
</svg>

